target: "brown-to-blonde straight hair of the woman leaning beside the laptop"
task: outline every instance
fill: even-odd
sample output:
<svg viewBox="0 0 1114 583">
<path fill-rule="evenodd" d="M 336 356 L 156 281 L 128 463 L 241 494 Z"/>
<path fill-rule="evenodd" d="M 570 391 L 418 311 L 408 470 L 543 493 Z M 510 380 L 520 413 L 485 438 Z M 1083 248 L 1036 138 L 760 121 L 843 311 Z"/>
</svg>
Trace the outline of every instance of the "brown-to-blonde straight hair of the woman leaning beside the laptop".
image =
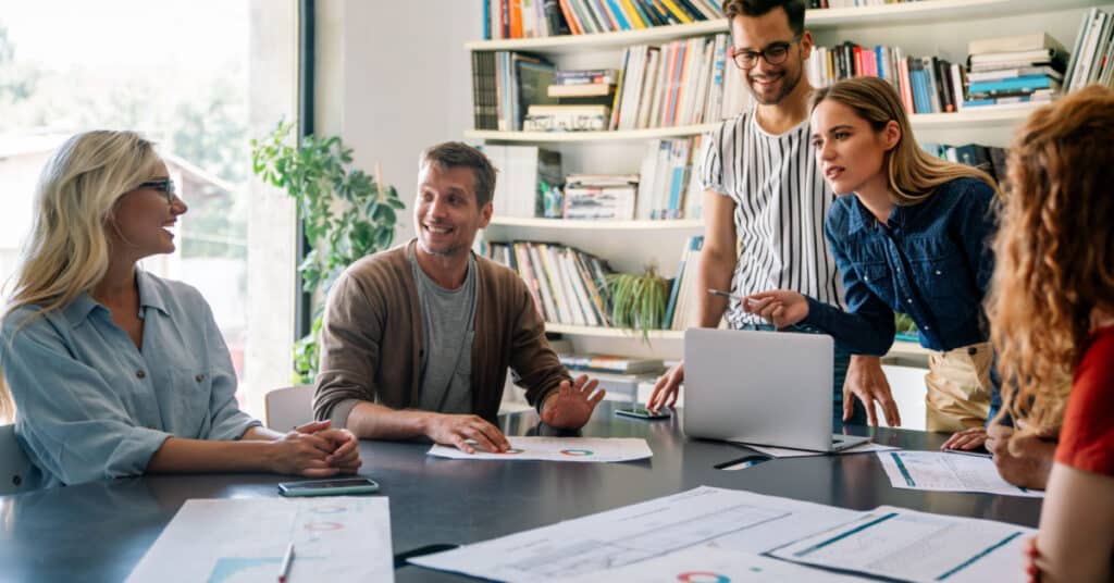
<svg viewBox="0 0 1114 583">
<path fill-rule="evenodd" d="M 921 149 L 913 138 L 901 98 L 888 81 L 877 77 L 837 81 L 812 93 L 809 111 L 815 110 L 825 99 L 850 107 L 874 132 L 881 132 L 890 122 L 897 122 L 901 137 L 897 146 L 886 154 L 886 175 L 893 193 L 893 204 L 907 206 L 924 202 L 936 192 L 937 186 L 956 178 L 977 178 L 997 191 L 998 186 L 989 174 L 937 158 Z"/>
</svg>

